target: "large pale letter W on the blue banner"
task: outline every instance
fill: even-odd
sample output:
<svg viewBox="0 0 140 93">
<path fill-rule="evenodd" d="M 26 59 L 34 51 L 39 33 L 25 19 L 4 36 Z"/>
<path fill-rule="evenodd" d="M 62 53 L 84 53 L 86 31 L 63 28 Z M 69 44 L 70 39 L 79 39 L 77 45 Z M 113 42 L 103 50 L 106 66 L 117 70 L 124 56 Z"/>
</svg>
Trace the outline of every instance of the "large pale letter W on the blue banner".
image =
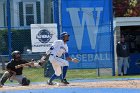
<svg viewBox="0 0 140 93">
<path fill-rule="evenodd" d="M 99 23 L 100 23 L 100 16 L 102 11 L 103 11 L 103 7 L 67 8 L 67 12 L 70 15 L 70 19 L 74 31 L 77 48 L 79 50 L 81 50 L 82 48 L 85 25 L 87 27 L 91 48 L 95 49 L 97 33 L 98 33 Z M 83 13 L 82 19 L 80 19 L 79 12 Z M 96 18 L 94 18 L 95 16 Z"/>
</svg>

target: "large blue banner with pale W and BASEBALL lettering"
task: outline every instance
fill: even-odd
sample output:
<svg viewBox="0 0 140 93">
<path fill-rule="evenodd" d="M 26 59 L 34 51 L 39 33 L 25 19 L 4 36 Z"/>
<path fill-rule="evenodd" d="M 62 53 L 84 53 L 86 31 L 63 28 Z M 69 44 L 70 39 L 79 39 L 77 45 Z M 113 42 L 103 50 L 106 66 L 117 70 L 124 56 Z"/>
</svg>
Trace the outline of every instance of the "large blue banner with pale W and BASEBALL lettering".
<svg viewBox="0 0 140 93">
<path fill-rule="evenodd" d="M 61 0 L 62 31 L 70 34 L 70 68 L 112 67 L 111 0 Z"/>
</svg>

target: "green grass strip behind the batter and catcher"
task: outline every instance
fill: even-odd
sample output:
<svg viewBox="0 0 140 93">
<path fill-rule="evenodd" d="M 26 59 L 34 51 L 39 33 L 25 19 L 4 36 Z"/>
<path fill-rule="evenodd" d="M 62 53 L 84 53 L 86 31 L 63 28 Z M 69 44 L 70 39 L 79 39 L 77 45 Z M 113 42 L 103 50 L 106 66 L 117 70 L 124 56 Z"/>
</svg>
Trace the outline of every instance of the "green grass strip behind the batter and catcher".
<svg viewBox="0 0 140 93">
<path fill-rule="evenodd" d="M 32 82 L 44 82 L 48 78 L 44 77 L 44 68 L 25 68 L 24 75 Z M 113 79 L 113 78 L 140 78 L 140 75 L 128 76 L 97 76 L 95 69 L 70 69 L 67 73 L 67 79 Z"/>
</svg>

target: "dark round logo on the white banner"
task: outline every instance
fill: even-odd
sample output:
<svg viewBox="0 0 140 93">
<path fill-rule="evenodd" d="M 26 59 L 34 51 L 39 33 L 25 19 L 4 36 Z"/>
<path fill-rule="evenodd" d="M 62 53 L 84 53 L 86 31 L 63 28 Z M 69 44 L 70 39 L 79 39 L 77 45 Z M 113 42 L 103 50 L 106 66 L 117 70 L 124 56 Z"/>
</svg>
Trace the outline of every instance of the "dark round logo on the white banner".
<svg viewBox="0 0 140 93">
<path fill-rule="evenodd" d="M 52 34 L 46 29 L 40 30 L 36 35 L 36 39 L 38 39 L 41 43 L 48 43 L 51 38 Z"/>
</svg>

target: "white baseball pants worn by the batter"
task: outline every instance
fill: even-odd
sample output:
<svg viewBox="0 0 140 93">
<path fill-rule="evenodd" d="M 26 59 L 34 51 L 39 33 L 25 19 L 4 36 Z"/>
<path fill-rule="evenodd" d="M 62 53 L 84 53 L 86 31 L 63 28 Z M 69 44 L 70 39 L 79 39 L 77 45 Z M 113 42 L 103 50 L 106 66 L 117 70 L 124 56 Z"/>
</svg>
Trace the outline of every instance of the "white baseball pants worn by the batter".
<svg viewBox="0 0 140 93">
<path fill-rule="evenodd" d="M 49 57 L 50 63 L 52 63 L 54 72 L 56 76 L 60 76 L 62 74 L 62 66 L 69 66 L 69 62 L 62 58 L 56 57 L 54 55 L 50 55 Z"/>
</svg>

